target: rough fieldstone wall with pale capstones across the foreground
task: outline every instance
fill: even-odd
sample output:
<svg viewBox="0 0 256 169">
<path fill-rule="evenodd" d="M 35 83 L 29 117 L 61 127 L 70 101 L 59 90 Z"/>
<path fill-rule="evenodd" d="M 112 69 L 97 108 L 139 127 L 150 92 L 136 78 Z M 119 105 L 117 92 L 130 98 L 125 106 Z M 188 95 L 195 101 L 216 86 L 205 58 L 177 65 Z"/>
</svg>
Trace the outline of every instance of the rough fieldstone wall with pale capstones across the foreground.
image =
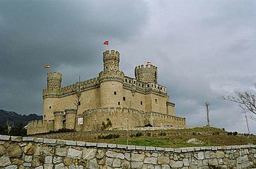
<svg viewBox="0 0 256 169">
<path fill-rule="evenodd" d="M 0 135 L 0 168 L 255 168 L 256 145 L 181 149 Z"/>
</svg>

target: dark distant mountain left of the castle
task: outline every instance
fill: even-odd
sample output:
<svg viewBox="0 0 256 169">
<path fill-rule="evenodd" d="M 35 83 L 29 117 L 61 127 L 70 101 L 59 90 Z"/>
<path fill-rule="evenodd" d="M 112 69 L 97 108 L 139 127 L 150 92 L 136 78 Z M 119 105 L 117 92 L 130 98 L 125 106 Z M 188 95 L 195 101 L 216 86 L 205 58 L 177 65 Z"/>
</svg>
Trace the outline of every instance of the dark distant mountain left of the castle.
<svg viewBox="0 0 256 169">
<path fill-rule="evenodd" d="M 16 127 L 20 124 L 25 126 L 29 121 L 32 120 L 42 120 L 42 115 L 20 115 L 13 111 L 4 111 L 2 109 L 0 110 L 0 127 L 6 126 L 7 122 L 11 123 L 13 127 Z"/>
</svg>

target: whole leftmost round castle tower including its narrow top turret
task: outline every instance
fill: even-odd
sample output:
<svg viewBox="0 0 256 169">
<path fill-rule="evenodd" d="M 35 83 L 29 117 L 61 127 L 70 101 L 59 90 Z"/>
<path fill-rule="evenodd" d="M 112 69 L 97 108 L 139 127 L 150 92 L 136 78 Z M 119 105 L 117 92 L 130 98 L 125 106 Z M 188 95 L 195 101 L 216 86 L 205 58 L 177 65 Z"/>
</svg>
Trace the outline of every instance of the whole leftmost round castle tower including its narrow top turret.
<svg viewBox="0 0 256 169">
<path fill-rule="evenodd" d="M 58 111 L 58 94 L 61 86 L 61 73 L 47 73 L 47 88 L 42 91 L 43 120 L 54 120 L 54 111 Z"/>
</svg>

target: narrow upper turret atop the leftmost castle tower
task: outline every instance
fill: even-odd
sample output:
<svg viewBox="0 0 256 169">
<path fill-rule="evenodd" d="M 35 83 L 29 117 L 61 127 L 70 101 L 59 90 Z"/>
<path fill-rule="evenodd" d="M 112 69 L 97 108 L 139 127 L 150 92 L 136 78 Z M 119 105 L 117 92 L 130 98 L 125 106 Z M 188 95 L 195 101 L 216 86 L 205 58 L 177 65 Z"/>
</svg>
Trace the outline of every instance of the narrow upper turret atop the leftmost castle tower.
<svg viewBox="0 0 256 169">
<path fill-rule="evenodd" d="M 47 73 L 47 89 L 54 90 L 59 89 L 62 86 L 62 74 L 61 73 Z"/>
</svg>

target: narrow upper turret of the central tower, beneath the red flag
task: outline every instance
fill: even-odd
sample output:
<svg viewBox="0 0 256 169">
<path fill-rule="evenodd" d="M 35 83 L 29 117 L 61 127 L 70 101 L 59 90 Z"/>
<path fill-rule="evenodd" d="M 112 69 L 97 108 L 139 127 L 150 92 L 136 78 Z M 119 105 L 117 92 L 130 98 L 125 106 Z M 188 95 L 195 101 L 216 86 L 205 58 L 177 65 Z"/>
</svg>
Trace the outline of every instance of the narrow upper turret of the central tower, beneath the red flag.
<svg viewBox="0 0 256 169">
<path fill-rule="evenodd" d="M 119 70 L 120 53 L 118 51 L 103 52 L 103 67 L 104 70 Z"/>
</svg>

